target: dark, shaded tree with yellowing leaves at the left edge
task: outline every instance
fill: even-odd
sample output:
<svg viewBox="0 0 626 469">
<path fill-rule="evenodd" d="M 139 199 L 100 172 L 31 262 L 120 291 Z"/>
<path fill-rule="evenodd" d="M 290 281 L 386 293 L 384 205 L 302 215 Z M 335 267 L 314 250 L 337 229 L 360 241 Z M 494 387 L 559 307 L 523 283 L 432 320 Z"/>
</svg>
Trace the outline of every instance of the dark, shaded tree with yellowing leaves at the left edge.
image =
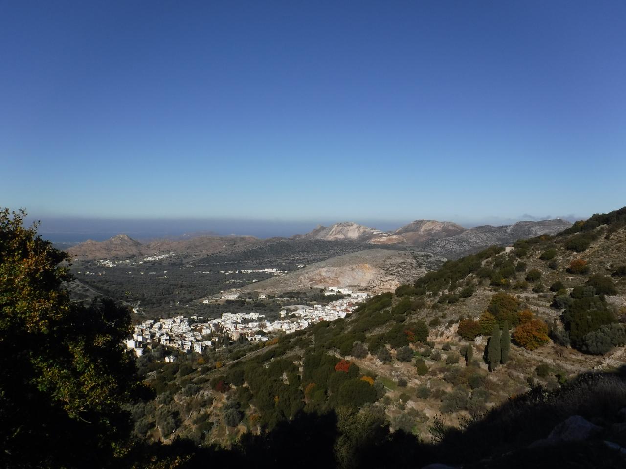
<svg viewBox="0 0 626 469">
<path fill-rule="evenodd" d="M 113 464 L 129 444 L 121 405 L 138 389 L 121 345 L 130 315 L 72 304 L 68 256 L 24 216 L 0 210 L 0 466 Z"/>
</svg>

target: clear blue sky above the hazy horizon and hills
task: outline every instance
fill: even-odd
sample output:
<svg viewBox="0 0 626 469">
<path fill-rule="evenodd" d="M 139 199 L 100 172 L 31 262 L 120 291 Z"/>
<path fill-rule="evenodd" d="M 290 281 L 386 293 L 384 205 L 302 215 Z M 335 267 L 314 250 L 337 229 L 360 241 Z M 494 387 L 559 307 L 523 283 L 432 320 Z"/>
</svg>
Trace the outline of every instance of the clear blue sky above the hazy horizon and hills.
<svg viewBox="0 0 626 469">
<path fill-rule="evenodd" d="M 0 206 L 480 220 L 626 204 L 626 3 L 1 1 Z"/>
</svg>

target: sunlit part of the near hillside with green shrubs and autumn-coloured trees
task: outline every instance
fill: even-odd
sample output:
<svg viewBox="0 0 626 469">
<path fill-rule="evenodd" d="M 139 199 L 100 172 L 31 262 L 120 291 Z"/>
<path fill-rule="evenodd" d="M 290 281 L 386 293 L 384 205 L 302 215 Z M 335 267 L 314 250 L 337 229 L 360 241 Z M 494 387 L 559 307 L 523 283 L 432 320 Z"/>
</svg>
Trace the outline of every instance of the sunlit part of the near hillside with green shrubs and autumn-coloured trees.
<svg viewBox="0 0 626 469">
<path fill-rule="evenodd" d="M 626 343 L 619 321 L 626 310 L 618 300 L 626 282 L 612 275 L 626 264 L 626 225 L 622 215 L 602 217 L 596 219 L 609 224 L 589 229 L 577 223 L 568 233 L 519 241 L 510 253 L 494 246 L 448 261 L 413 285 L 374 296 L 345 320 L 284 336 L 270 350 L 227 365 L 219 370 L 225 377 L 254 369 L 274 384 L 260 389 L 256 380 L 248 382 L 252 371 L 240 385 L 227 380 L 225 395 L 228 402 L 237 401 L 239 427 L 229 430 L 216 417 L 229 408 L 218 396 L 203 441 L 231 445 L 300 410 L 323 413 L 346 406 L 365 408 L 382 415 L 392 429 L 428 439 L 434 423 L 428 414 L 439 413 L 443 425 L 459 428 L 532 386 L 557 390 L 578 373 L 606 366 L 603 355 Z M 589 245 L 572 249 L 570 241 L 580 236 Z M 587 273 L 568 271 L 577 260 L 585 261 Z M 536 291 L 539 283 L 550 288 Z M 608 300 L 616 294 L 621 296 Z M 466 363 L 461 358 L 469 346 L 476 353 Z M 289 362 L 289 373 L 276 368 L 277 360 Z M 349 372 L 335 370 L 341 363 L 350 363 Z M 550 372 L 536 375 L 544 363 L 550 363 Z M 202 385 L 204 376 L 217 372 L 213 366 L 203 366 L 190 379 Z M 210 388 L 208 393 L 215 394 Z M 169 411 L 181 413 L 181 405 L 184 400 L 177 398 Z M 158 427 L 153 415 L 144 420 Z M 197 434 L 193 418 L 176 433 Z M 150 435 L 163 439 L 158 431 Z"/>
</svg>

